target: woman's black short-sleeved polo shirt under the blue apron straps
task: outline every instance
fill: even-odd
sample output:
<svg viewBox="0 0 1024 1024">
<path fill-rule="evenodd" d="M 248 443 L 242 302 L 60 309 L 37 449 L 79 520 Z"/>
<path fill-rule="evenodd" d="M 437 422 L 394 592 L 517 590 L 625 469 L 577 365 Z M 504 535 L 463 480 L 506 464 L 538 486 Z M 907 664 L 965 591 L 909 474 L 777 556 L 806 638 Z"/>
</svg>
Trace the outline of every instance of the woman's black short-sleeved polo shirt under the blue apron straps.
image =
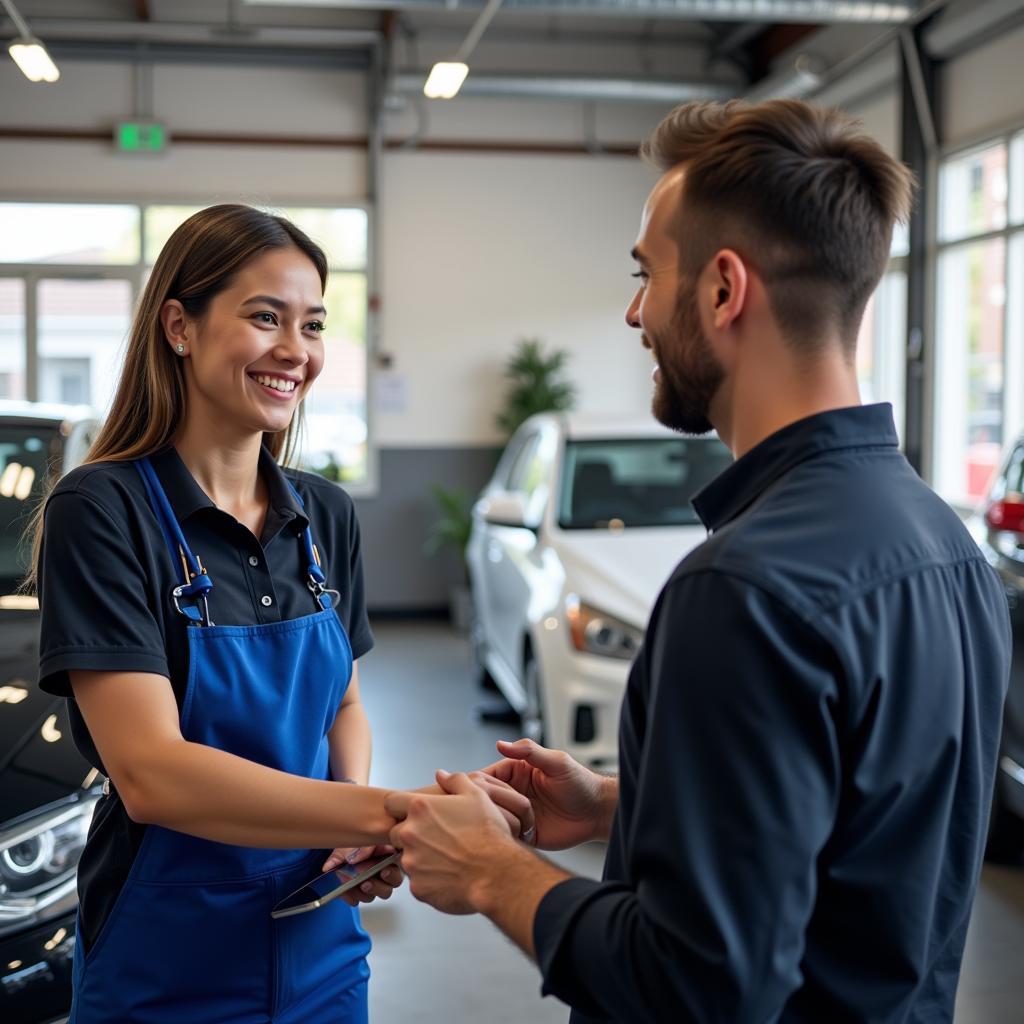
<svg viewBox="0 0 1024 1024">
<path fill-rule="evenodd" d="M 213 581 L 209 604 L 215 624 L 251 626 L 319 610 L 306 587 L 301 532 L 309 524 L 328 586 L 341 595 L 336 610 L 353 657 L 370 650 L 359 528 L 352 501 L 339 486 L 310 473 L 283 471 L 262 450 L 259 472 L 269 504 L 257 539 L 213 504 L 173 447 L 151 461 L 193 553 Z M 196 628 L 170 599 L 182 573 L 132 464 L 83 466 L 57 484 L 46 505 L 39 578 L 40 686 L 69 697 L 75 741 L 101 771 L 68 672 L 165 676 L 180 709 L 188 679 L 187 630 Z M 106 920 L 144 833 L 116 795 L 100 801 L 78 876 L 86 945 Z"/>
</svg>

